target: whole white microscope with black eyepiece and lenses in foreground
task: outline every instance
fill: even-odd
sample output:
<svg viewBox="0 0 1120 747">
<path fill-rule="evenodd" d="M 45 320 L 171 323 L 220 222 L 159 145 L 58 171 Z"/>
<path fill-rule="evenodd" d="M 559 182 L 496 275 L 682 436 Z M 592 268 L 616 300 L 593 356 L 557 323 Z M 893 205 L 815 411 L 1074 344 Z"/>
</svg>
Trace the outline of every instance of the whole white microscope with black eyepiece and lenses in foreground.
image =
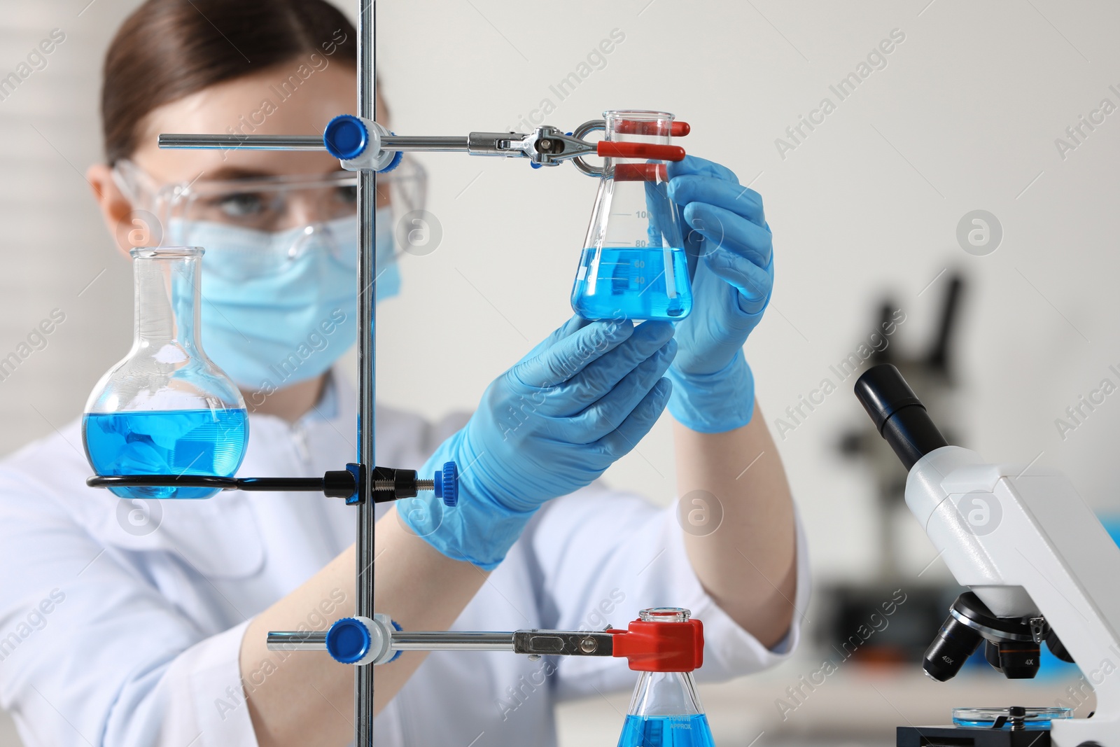
<svg viewBox="0 0 1120 747">
<path fill-rule="evenodd" d="M 1089 718 L 956 709 L 953 726 L 898 727 L 898 747 L 1120 747 L 1120 548 L 1095 514 L 1054 469 L 950 446 L 893 365 L 868 368 L 856 396 L 909 473 L 906 505 L 970 589 L 926 650 L 925 673 L 945 682 L 983 644 L 996 670 L 1029 679 L 1045 644 L 1096 693 Z"/>
</svg>

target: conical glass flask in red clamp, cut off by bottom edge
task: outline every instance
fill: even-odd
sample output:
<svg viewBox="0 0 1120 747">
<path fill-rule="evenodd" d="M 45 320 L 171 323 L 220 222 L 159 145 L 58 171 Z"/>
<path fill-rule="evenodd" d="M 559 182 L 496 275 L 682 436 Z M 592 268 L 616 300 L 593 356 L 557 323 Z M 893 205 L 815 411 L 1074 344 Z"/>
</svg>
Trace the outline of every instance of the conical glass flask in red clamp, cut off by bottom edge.
<svg viewBox="0 0 1120 747">
<path fill-rule="evenodd" d="M 643 609 L 638 618 L 679 625 L 690 614 L 680 607 L 654 607 Z M 618 747 L 715 747 L 692 672 L 642 672 Z"/>
</svg>

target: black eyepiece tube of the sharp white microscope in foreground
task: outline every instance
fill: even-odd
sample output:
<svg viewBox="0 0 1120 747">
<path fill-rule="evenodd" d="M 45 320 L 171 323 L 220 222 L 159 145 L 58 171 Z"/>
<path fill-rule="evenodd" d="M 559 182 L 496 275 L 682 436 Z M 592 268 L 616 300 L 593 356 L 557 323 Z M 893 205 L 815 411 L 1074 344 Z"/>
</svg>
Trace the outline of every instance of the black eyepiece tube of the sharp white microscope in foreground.
<svg viewBox="0 0 1120 747">
<path fill-rule="evenodd" d="M 865 371 L 856 381 L 856 396 L 906 469 L 926 454 L 949 446 L 922 400 L 889 363 Z"/>
</svg>

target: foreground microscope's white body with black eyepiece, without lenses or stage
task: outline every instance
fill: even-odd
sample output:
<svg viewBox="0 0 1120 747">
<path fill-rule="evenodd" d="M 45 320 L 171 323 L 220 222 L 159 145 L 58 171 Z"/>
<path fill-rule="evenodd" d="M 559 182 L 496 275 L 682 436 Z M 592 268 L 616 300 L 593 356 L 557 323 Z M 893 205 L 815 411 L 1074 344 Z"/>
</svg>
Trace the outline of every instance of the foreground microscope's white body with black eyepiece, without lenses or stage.
<svg viewBox="0 0 1120 747">
<path fill-rule="evenodd" d="M 906 504 L 958 582 L 999 618 L 1045 618 L 1092 684 L 1095 712 L 1054 720 L 1052 744 L 1120 747 L 1120 548 L 1096 515 L 1054 469 L 945 446 L 894 366 L 857 395 L 911 467 Z"/>
</svg>

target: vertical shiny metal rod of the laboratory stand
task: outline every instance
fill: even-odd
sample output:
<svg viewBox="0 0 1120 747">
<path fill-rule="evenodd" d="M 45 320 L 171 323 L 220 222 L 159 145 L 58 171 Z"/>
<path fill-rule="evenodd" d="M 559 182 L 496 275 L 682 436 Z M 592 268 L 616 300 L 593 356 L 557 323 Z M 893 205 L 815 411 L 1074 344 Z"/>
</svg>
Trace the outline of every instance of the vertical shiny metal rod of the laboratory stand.
<svg viewBox="0 0 1120 747">
<path fill-rule="evenodd" d="M 357 110 L 376 119 L 376 0 L 358 0 L 357 21 Z M 358 171 L 358 287 L 357 287 L 357 442 L 358 463 L 372 474 L 374 461 L 374 362 L 376 273 L 374 235 L 377 178 L 371 170 Z M 373 480 L 365 480 L 365 495 L 357 506 L 357 578 L 354 611 L 373 617 Z M 354 674 L 354 745 L 373 746 L 373 666 L 356 666 Z"/>
</svg>

